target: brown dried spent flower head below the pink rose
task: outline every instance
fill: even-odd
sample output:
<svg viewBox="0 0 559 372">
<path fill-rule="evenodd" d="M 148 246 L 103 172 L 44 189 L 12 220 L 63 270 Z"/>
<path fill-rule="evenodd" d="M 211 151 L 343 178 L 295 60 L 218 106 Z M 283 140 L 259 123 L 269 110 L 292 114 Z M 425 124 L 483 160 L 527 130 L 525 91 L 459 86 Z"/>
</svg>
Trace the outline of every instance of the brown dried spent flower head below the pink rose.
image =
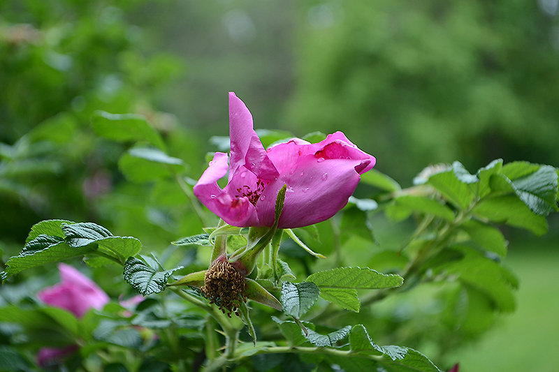
<svg viewBox="0 0 559 372">
<path fill-rule="evenodd" d="M 231 262 L 216 260 L 212 263 L 204 276 L 201 288 L 203 295 L 210 299 L 210 304 L 219 306 L 219 310 L 239 316 L 238 308 L 247 301 L 245 291 L 245 276 L 231 265 Z"/>
</svg>

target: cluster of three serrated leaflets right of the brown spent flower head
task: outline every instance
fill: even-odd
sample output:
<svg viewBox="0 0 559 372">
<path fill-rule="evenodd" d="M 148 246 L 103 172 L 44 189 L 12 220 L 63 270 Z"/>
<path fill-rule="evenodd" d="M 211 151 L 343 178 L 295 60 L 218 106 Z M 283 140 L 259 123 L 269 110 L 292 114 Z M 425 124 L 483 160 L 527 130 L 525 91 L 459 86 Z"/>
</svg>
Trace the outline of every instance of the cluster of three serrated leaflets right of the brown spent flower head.
<svg viewBox="0 0 559 372">
<path fill-rule="evenodd" d="M 339 267 L 311 274 L 303 283 L 286 282 L 282 286 L 284 313 L 300 318 L 318 299 L 358 312 L 361 303 L 357 290 L 394 288 L 403 278 L 395 274 L 381 274 L 361 267 Z"/>
</svg>

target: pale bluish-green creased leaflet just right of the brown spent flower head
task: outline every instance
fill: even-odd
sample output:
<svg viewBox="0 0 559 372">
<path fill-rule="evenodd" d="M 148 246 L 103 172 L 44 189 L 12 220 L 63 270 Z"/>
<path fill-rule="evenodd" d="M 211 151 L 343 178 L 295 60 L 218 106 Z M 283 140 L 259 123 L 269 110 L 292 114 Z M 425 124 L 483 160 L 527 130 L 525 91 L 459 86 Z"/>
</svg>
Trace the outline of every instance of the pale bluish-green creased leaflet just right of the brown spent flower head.
<svg viewBox="0 0 559 372">
<path fill-rule="evenodd" d="M 282 285 L 282 308 L 287 315 L 300 318 L 319 298 L 320 290 L 312 282 Z"/>
</svg>

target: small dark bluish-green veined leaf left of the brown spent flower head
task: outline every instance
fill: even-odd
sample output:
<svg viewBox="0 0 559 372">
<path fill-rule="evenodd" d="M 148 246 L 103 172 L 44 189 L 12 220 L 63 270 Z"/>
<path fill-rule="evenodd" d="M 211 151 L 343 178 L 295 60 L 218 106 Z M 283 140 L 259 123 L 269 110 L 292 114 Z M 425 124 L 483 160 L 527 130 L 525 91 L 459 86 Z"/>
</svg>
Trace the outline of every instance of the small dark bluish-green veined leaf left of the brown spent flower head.
<svg viewBox="0 0 559 372">
<path fill-rule="evenodd" d="M 123 272 L 124 280 L 143 296 L 165 290 L 167 281 L 173 271 L 182 269 L 182 267 L 172 270 L 161 270 L 160 267 L 155 269 L 146 261 L 150 261 L 152 265 L 157 265 L 157 261 L 150 260 L 150 258 L 131 257 L 126 260 Z"/>
</svg>

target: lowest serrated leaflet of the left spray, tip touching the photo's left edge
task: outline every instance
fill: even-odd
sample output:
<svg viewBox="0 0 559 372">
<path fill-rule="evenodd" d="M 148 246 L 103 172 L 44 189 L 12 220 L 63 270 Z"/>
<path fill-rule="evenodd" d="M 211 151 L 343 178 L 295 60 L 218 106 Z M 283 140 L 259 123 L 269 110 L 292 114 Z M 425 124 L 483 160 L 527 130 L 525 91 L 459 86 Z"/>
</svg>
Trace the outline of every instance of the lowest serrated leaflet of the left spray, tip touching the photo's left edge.
<svg viewBox="0 0 559 372">
<path fill-rule="evenodd" d="M 20 255 L 11 257 L 8 262 L 6 262 L 6 270 L 1 274 L 1 278 L 2 280 L 6 280 L 6 278 L 20 271 L 30 269 L 31 267 L 77 257 L 92 252 L 94 249 L 95 248 L 92 246 L 73 248 L 62 241 L 58 244 L 43 248 L 41 251 L 22 251 Z"/>
</svg>

